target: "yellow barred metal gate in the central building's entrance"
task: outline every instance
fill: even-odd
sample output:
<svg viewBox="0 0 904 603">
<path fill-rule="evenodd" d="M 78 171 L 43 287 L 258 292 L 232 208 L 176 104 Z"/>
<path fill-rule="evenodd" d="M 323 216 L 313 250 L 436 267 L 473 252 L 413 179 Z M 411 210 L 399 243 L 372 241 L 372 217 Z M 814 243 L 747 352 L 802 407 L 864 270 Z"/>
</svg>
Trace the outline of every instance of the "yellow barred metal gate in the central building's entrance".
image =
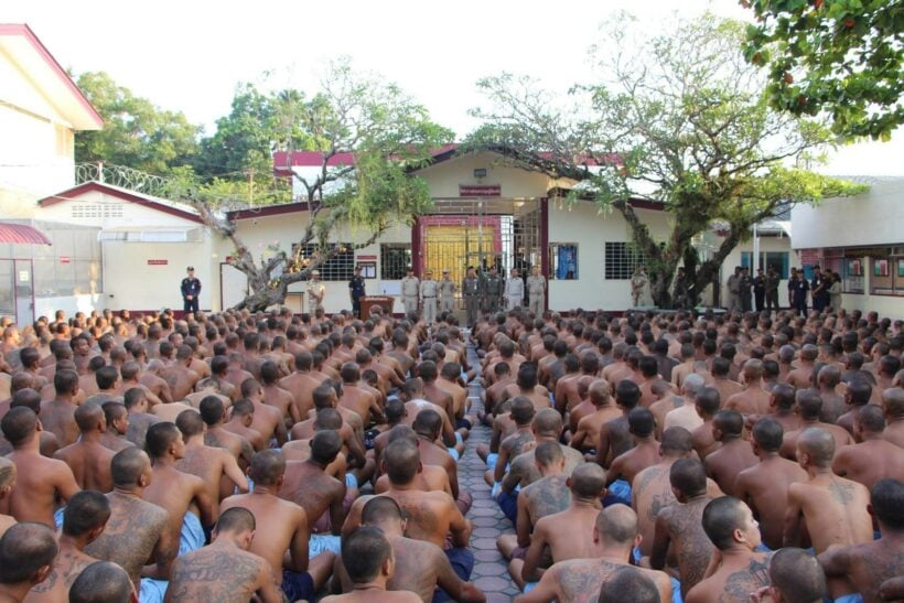
<svg viewBox="0 0 904 603">
<path fill-rule="evenodd" d="M 542 266 L 541 200 L 435 200 L 433 212 L 418 219 L 419 267 L 439 279 L 449 270 L 461 283 L 469 267 L 478 273 L 495 266 L 523 278 Z M 461 295 L 461 291 L 459 291 Z"/>
</svg>

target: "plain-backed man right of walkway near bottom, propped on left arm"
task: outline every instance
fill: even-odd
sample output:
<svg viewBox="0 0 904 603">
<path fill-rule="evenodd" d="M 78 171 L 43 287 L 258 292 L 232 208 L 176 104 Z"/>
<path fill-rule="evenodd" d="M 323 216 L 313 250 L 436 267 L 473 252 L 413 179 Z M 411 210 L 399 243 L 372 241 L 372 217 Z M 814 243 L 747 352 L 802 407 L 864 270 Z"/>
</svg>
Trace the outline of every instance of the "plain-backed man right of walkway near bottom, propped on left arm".
<svg viewBox="0 0 904 603">
<path fill-rule="evenodd" d="M 605 492 L 605 472 L 595 463 L 584 463 L 574 469 L 567 483 L 571 491 L 569 507 L 540 518 L 534 527 L 524 561 L 513 559 L 508 564 L 508 573 L 521 590 L 527 582 L 542 578 L 545 570 L 540 564 L 545 548 L 549 548 L 553 563 L 591 559 L 601 552 L 592 535 L 602 509 L 600 500 Z"/>
</svg>

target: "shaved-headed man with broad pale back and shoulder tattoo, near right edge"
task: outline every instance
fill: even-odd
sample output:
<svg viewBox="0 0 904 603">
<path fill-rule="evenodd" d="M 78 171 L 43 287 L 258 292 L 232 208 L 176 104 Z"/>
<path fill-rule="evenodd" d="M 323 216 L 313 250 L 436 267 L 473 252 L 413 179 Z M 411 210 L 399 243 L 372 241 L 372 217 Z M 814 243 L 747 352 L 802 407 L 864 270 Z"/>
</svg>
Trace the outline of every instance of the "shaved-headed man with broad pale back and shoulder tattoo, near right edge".
<svg viewBox="0 0 904 603">
<path fill-rule="evenodd" d="M 817 554 L 832 545 L 861 545 L 872 540 L 872 519 L 867 512 L 869 491 L 831 471 L 835 439 L 822 429 L 807 429 L 797 440 L 797 462 L 809 481 L 792 484 L 785 510 L 784 546 L 804 541 L 803 526 Z"/>
</svg>

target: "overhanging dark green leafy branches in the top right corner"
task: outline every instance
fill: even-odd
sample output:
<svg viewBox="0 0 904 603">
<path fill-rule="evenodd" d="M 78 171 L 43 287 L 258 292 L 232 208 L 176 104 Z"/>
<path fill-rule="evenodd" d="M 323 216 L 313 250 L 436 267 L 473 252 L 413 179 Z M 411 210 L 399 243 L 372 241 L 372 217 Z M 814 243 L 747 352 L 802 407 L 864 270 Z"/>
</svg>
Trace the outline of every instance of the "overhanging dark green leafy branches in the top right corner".
<svg viewBox="0 0 904 603">
<path fill-rule="evenodd" d="M 887 140 L 904 123 L 904 10 L 889 0 L 741 0 L 756 17 L 747 60 L 772 105 L 831 116 L 843 138 Z"/>
</svg>

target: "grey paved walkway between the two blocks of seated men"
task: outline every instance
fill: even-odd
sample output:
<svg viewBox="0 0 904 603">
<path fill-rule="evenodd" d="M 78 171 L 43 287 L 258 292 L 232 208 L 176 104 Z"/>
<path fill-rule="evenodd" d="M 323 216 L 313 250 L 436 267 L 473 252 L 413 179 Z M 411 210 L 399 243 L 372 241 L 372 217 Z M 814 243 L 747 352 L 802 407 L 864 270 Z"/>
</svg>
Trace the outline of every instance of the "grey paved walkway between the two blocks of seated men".
<svg viewBox="0 0 904 603">
<path fill-rule="evenodd" d="M 469 363 L 480 367 L 472 347 L 469 347 Z M 469 386 L 472 413 L 483 410 L 482 390 L 483 387 L 476 383 Z M 471 548 L 474 550 L 475 562 L 471 580 L 486 593 L 487 603 L 502 603 L 512 601 L 519 591 L 508 577 L 505 559 L 496 549 L 496 538 L 501 534 L 514 534 L 515 530 L 496 502 L 489 497 L 489 486 L 483 480 L 486 465 L 476 452 L 477 444 L 488 444 L 491 435 L 492 430 L 482 424 L 471 430 L 464 456 L 459 462 L 459 486 L 474 497 L 474 504 L 467 512 L 467 518 L 474 524 Z"/>
</svg>

